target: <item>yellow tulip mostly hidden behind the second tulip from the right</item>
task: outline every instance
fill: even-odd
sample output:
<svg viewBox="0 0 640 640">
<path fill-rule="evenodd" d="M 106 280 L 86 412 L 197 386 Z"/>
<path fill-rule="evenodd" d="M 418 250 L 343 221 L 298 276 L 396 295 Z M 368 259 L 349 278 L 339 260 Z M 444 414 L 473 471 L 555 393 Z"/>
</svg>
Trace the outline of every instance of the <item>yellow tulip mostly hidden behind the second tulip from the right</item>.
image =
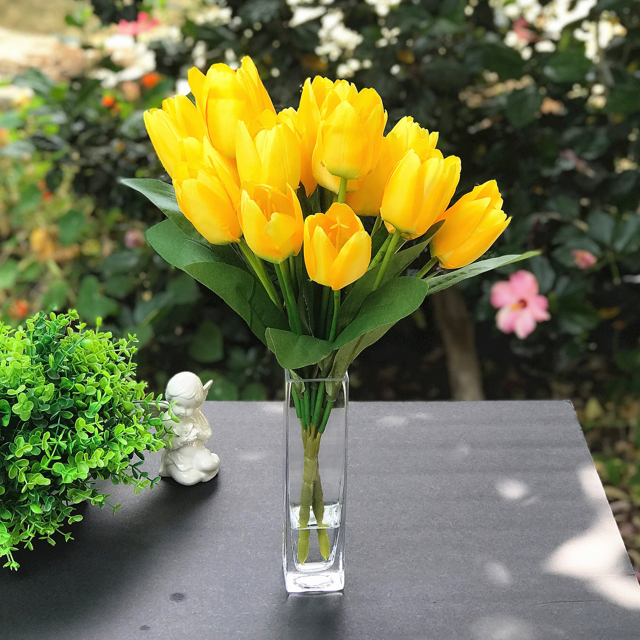
<svg viewBox="0 0 640 640">
<path fill-rule="evenodd" d="M 430 148 L 435 148 L 438 133 L 429 133 L 422 129 L 417 122 L 413 122 L 411 116 L 404 116 L 388 132 L 382 141 L 378 164 L 369 175 L 358 182 L 358 191 L 347 195 L 346 203 L 358 216 L 377 216 L 380 213 L 382 195 L 389 176 L 404 154 L 419 141 L 426 141 Z"/>
</svg>

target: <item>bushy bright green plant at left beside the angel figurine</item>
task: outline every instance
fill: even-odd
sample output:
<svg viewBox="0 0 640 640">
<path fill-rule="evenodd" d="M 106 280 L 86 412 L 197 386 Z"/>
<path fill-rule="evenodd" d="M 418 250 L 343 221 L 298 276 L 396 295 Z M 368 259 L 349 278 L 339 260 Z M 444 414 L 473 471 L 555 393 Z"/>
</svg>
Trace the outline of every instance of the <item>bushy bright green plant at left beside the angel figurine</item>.
<svg viewBox="0 0 640 640">
<path fill-rule="evenodd" d="M 33 549 L 36 536 L 55 544 L 56 532 L 82 519 L 77 502 L 115 513 L 120 505 L 95 479 L 133 484 L 136 493 L 159 479 L 138 469 L 166 431 L 152 417 L 157 399 L 134 380 L 136 339 L 112 340 L 77 318 L 70 311 L 37 314 L 17 330 L 0 324 L 0 557 L 12 569 L 19 545 Z"/>
</svg>

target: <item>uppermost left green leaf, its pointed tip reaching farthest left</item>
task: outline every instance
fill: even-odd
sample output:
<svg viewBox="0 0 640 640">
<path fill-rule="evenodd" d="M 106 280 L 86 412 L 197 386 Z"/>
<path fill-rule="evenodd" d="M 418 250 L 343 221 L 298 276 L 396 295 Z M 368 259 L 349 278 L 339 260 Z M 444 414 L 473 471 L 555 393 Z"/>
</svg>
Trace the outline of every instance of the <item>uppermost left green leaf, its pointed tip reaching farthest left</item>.
<svg viewBox="0 0 640 640">
<path fill-rule="evenodd" d="M 120 180 L 120 182 L 127 187 L 136 189 L 136 191 L 148 198 L 185 236 L 197 243 L 207 246 L 222 262 L 233 264 L 240 269 L 244 269 L 244 271 L 248 271 L 243 260 L 241 260 L 239 255 L 237 255 L 230 246 L 216 246 L 208 243 L 191 222 L 184 217 L 184 214 L 180 211 L 178 201 L 175 197 L 175 189 L 173 189 L 172 184 L 150 178 L 125 178 Z"/>
</svg>

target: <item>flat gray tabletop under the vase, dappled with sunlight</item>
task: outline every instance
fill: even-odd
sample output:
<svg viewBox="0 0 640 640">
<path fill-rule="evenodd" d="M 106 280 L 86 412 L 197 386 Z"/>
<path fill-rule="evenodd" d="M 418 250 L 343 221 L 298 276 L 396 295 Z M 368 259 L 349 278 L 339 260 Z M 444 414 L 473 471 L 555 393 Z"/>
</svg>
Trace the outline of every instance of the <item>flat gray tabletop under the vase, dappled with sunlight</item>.
<svg viewBox="0 0 640 640">
<path fill-rule="evenodd" d="M 163 480 L 0 571 L 2 640 L 630 640 L 640 587 L 566 402 L 351 403 L 342 594 L 285 595 L 282 406 L 207 403 Z M 149 456 L 150 470 L 159 456 Z"/>
</svg>

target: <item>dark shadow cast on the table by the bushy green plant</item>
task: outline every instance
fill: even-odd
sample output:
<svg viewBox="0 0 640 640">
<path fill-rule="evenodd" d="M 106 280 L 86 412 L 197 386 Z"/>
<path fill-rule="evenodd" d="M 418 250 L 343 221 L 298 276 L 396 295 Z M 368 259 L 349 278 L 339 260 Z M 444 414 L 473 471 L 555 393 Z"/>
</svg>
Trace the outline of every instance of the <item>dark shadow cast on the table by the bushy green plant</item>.
<svg viewBox="0 0 640 640">
<path fill-rule="evenodd" d="M 179 546 L 175 522 L 182 522 L 183 534 L 189 531 L 188 523 L 211 505 L 220 482 L 216 476 L 208 483 L 182 486 L 163 479 L 147 499 L 129 502 L 126 511 L 118 511 L 108 527 L 100 527 L 102 514 L 95 518 L 98 508 L 87 505 L 81 509 L 84 519 L 70 527 L 74 540 L 65 543 L 62 539 L 54 547 L 38 540 L 34 552 L 16 552 L 20 568 L 0 573 L 0 593 L 3 609 L 12 611 L 12 621 L 22 620 L 15 630 L 3 624 L 6 637 L 16 637 L 16 633 L 28 637 L 28 629 L 37 629 L 37 637 L 47 637 L 49 628 L 122 609 L 123 594 L 141 588 L 159 570 L 147 558 L 165 557 L 170 562 L 175 557 Z M 133 492 L 132 487 L 105 486 L 104 490 L 120 496 L 125 490 Z M 28 582 L 31 589 L 28 600 L 19 589 L 21 582 Z M 20 596 L 13 597 L 12 587 Z M 0 620 L 3 617 L 0 614 Z"/>
</svg>

